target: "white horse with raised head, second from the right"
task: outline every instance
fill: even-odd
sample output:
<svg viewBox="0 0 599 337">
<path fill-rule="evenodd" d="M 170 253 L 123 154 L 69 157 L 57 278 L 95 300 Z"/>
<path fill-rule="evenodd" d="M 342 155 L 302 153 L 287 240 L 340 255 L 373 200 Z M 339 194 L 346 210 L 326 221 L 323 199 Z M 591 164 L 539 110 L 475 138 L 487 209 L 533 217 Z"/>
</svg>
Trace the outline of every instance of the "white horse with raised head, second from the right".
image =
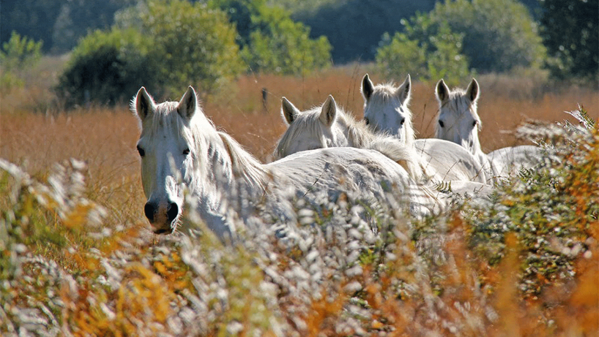
<svg viewBox="0 0 599 337">
<path fill-rule="evenodd" d="M 392 84 L 374 86 L 368 74 L 362 79 L 364 121 L 379 133 L 391 134 L 407 146 L 412 146 L 442 180 L 462 180 L 486 183 L 488 177 L 480 161 L 470 152 L 452 142 L 440 139 L 415 139 L 410 101 L 410 75 L 399 87 Z"/>
</svg>

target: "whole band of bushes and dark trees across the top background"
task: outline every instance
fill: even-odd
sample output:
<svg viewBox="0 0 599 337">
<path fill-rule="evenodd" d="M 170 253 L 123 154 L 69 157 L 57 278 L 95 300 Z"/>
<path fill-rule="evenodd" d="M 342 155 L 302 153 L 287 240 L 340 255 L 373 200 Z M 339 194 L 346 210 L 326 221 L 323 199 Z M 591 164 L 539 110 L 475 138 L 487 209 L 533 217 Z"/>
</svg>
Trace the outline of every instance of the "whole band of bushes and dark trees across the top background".
<svg viewBox="0 0 599 337">
<path fill-rule="evenodd" d="M 375 61 L 398 78 L 547 68 L 596 82 L 598 3 L 3 0 L 0 61 L 30 40 L 43 41 L 38 52 L 71 51 L 56 88 L 68 105 L 114 104 L 140 83 L 164 94 L 183 82 L 211 92 L 244 71 L 301 74 L 350 61 Z"/>
</svg>

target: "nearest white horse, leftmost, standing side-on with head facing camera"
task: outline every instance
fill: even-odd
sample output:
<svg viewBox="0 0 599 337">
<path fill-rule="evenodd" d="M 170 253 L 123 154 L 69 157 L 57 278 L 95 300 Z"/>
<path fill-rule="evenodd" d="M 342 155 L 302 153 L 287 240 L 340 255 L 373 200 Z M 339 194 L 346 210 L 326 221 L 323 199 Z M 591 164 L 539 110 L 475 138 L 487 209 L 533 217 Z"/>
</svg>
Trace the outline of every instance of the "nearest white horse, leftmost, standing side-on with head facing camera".
<svg viewBox="0 0 599 337">
<path fill-rule="evenodd" d="M 413 214 L 437 207 L 428 189 L 377 151 L 316 149 L 261 164 L 214 128 L 191 87 L 179 102 L 160 104 L 142 87 L 131 105 L 141 128 L 144 212 L 155 233 L 174 231 L 184 204 L 193 204 L 190 209 L 220 237 L 234 235 L 234 219 L 251 227 L 264 219 L 256 216 L 263 212 L 273 222 L 297 225 L 290 198 L 327 204 L 344 194 L 365 204 L 388 204 L 394 191 Z"/>
</svg>

